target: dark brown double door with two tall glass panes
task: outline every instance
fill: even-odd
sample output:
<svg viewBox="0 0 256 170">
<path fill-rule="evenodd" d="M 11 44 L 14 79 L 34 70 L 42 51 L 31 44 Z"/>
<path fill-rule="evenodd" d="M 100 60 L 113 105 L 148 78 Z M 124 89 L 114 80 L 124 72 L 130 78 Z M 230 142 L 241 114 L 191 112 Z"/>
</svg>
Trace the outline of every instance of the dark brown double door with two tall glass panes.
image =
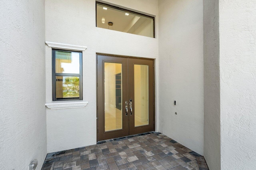
<svg viewBox="0 0 256 170">
<path fill-rule="evenodd" d="M 97 55 L 97 141 L 154 131 L 154 60 Z"/>
</svg>

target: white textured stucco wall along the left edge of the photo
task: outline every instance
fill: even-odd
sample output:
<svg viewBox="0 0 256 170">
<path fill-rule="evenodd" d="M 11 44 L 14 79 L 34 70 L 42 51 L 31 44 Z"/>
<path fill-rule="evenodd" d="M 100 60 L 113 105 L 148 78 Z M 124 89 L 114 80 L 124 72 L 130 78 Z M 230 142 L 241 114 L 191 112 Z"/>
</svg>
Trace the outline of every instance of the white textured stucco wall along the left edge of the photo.
<svg viewBox="0 0 256 170">
<path fill-rule="evenodd" d="M 0 3 L 0 169 L 46 157 L 44 1 Z"/>
</svg>

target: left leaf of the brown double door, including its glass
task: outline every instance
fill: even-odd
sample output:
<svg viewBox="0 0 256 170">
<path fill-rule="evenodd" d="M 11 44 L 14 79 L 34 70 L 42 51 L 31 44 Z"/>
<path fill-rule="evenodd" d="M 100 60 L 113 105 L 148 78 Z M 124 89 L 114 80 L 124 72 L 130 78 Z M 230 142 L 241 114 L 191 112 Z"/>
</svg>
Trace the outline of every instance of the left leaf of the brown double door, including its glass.
<svg viewBox="0 0 256 170">
<path fill-rule="evenodd" d="M 128 59 L 97 55 L 97 67 L 97 141 L 128 136 Z"/>
</svg>

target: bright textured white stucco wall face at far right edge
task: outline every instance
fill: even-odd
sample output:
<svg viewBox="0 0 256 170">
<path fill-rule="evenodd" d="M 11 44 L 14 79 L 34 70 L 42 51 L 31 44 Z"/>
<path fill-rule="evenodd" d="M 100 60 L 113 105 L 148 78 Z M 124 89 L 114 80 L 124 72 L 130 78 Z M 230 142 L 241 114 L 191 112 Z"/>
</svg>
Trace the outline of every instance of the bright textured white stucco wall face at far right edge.
<svg viewBox="0 0 256 170">
<path fill-rule="evenodd" d="M 221 168 L 256 169 L 256 0 L 220 0 Z"/>
</svg>

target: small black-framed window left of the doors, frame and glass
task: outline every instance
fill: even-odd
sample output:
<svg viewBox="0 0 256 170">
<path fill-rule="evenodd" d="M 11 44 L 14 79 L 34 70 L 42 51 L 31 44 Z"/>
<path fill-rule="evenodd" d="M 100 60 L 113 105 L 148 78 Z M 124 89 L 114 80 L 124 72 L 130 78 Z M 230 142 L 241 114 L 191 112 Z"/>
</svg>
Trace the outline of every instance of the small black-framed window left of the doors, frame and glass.
<svg viewBox="0 0 256 170">
<path fill-rule="evenodd" d="M 82 100 L 82 52 L 52 49 L 52 100 Z"/>
</svg>

